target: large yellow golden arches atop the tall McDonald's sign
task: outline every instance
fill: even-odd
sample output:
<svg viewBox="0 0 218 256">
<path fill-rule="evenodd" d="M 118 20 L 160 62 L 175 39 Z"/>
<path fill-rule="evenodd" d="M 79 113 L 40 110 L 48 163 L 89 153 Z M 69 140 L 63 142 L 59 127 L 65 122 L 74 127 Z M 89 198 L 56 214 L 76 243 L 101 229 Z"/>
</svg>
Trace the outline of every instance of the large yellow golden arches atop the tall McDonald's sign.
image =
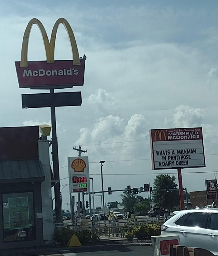
<svg viewBox="0 0 218 256">
<path fill-rule="evenodd" d="M 56 34 L 57 34 L 59 24 L 61 24 L 61 23 L 64 25 L 64 27 L 68 33 L 68 36 L 69 36 L 69 41 L 70 41 L 72 55 L 73 55 L 73 65 L 81 65 L 76 40 L 75 40 L 75 37 L 73 34 L 73 30 L 70 27 L 67 20 L 65 20 L 64 18 L 59 18 L 55 22 L 55 25 L 54 25 L 54 27 L 52 29 L 52 33 L 51 33 L 51 39 L 49 42 L 47 33 L 45 31 L 45 27 L 42 25 L 40 20 L 33 18 L 27 24 L 25 32 L 24 32 L 24 36 L 23 36 L 23 42 L 22 42 L 22 48 L 21 48 L 21 63 L 20 63 L 21 67 L 28 66 L 28 63 L 27 63 L 28 43 L 29 43 L 30 32 L 31 32 L 31 28 L 32 28 L 33 24 L 36 24 L 39 27 L 39 30 L 42 34 L 42 39 L 43 39 L 44 46 L 45 46 L 47 63 L 55 62 L 55 40 L 56 40 Z"/>
</svg>

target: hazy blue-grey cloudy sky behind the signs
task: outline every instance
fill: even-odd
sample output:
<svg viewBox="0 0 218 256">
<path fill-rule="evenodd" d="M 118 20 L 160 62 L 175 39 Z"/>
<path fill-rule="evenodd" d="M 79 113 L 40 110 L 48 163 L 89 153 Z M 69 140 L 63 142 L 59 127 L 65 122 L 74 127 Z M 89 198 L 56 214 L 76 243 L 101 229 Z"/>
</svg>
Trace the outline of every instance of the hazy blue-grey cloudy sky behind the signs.
<svg viewBox="0 0 218 256">
<path fill-rule="evenodd" d="M 157 173 L 176 175 L 152 170 L 149 129 L 202 126 L 206 168 L 182 173 L 188 191 L 204 190 L 203 179 L 218 171 L 217 11 L 215 0 L 0 1 L 1 126 L 50 123 L 50 109 L 22 109 L 21 94 L 39 91 L 19 89 L 14 61 L 20 60 L 31 18 L 38 18 L 50 37 L 55 21 L 64 17 L 87 60 L 84 86 L 62 90 L 82 91 L 82 106 L 56 110 L 61 184 L 68 183 L 67 157 L 77 155 L 72 148 L 78 145 L 88 151 L 96 191 L 100 160 L 106 161 L 105 188 L 140 187 Z M 71 58 L 61 25 L 55 59 Z M 36 25 L 28 59 L 45 60 Z M 68 187 L 62 195 L 65 205 Z M 120 201 L 119 193 L 105 200 Z"/>
</svg>

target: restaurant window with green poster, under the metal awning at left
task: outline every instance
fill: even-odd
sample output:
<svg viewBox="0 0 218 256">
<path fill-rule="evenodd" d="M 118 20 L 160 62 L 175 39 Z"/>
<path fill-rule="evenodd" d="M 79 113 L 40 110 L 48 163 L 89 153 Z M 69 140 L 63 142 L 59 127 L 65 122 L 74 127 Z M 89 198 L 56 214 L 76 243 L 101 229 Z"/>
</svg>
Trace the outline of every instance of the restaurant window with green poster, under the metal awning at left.
<svg viewBox="0 0 218 256">
<path fill-rule="evenodd" d="M 33 193 L 3 194 L 4 242 L 36 239 Z"/>
</svg>

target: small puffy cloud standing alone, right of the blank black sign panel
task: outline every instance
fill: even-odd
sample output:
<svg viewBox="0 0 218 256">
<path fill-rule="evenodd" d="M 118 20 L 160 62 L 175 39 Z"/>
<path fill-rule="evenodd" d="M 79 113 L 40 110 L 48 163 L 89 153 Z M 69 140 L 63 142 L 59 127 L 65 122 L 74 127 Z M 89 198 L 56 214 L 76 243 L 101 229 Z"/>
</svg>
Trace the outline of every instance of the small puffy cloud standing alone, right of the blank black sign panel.
<svg viewBox="0 0 218 256">
<path fill-rule="evenodd" d="M 88 103 L 92 106 L 95 112 L 103 114 L 115 108 L 114 97 L 102 88 L 99 88 L 94 94 L 91 94 L 88 97 Z"/>
</svg>

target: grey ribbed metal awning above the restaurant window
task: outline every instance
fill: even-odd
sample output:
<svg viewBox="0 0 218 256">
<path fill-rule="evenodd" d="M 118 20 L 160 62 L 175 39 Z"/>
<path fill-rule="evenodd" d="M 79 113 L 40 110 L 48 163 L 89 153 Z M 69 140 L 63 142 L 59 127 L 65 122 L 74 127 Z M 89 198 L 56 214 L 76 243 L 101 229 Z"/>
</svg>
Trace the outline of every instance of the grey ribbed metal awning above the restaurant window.
<svg viewBox="0 0 218 256">
<path fill-rule="evenodd" d="M 0 161 L 0 184 L 44 180 L 45 174 L 38 159 Z"/>
</svg>

